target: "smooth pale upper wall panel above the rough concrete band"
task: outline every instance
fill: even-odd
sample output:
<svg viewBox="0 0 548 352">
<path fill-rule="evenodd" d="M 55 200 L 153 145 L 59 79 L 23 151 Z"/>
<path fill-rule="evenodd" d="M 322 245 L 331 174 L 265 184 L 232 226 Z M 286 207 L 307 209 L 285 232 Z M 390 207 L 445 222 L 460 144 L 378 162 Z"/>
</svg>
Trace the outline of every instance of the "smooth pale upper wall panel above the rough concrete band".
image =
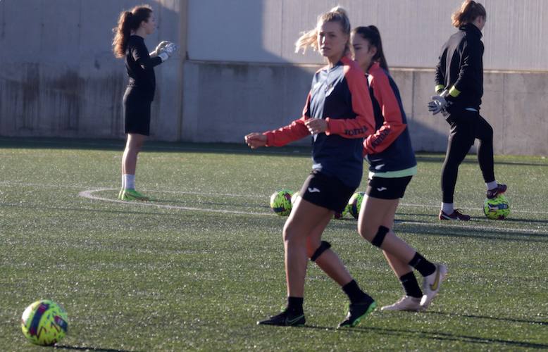
<svg viewBox="0 0 548 352">
<path fill-rule="evenodd" d="M 482 0 L 485 68 L 548 70 L 548 1 Z M 462 0 L 190 0 L 188 55 L 200 61 L 322 63 L 294 53 L 299 33 L 340 4 L 351 25 L 376 25 L 391 66 L 432 68 L 455 32 L 451 14 Z M 222 29 L 222 30 L 220 30 Z"/>
</svg>

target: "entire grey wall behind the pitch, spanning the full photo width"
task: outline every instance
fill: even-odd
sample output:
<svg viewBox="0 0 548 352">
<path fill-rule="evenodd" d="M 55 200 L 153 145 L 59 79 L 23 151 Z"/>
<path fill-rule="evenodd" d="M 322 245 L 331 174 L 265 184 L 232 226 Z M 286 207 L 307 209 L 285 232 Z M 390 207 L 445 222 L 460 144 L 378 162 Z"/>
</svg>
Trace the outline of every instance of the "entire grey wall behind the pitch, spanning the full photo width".
<svg viewBox="0 0 548 352">
<path fill-rule="evenodd" d="M 444 151 L 448 126 L 425 108 L 449 16 L 461 0 L 151 0 L 161 39 L 181 51 L 156 68 L 151 138 L 242 142 L 298 118 L 322 58 L 294 41 L 336 4 L 382 31 L 416 150 Z M 0 0 L 0 135 L 123 138 L 118 14 L 142 1 Z M 482 114 L 495 153 L 548 155 L 548 4 L 484 0 Z M 525 143 L 527 141 L 527 143 Z M 301 144 L 309 144 L 303 141 Z"/>
</svg>

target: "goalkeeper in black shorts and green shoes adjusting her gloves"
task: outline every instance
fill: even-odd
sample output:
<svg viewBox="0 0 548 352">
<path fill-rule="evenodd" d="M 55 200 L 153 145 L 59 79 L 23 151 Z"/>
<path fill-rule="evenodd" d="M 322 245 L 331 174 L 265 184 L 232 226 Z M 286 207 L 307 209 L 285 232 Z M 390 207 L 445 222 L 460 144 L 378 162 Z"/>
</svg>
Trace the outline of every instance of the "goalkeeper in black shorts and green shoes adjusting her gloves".
<svg viewBox="0 0 548 352">
<path fill-rule="evenodd" d="M 150 108 L 154 100 L 156 78 L 154 66 L 166 61 L 176 50 L 173 43 L 163 41 L 150 54 L 144 38 L 156 28 L 154 13 L 150 6 L 135 6 L 131 11 L 120 13 L 113 39 L 113 51 L 117 58 L 125 58 L 129 76 L 123 97 L 124 131 L 127 142 L 122 158 L 122 189 L 118 199 L 123 201 L 149 198 L 135 190 L 135 168 L 137 154 L 150 130 Z"/>
</svg>

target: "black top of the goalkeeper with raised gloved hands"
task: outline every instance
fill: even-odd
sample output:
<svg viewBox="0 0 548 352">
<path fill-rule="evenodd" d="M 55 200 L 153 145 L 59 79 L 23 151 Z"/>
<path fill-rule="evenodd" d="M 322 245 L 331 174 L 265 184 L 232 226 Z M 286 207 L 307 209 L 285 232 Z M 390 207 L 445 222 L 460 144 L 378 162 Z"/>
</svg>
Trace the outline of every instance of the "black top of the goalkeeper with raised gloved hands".
<svg viewBox="0 0 548 352">
<path fill-rule="evenodd" d="M 156 90 L 156 76 L 154 66 L 160 65 L 162 59 L 156 56 L 151 58 L 147 46 L 144 45 L 144 38 L 132 35 L 127 39 L 125 49 L 125 68 L 130 77 L 127 87 L 137 89 L 143 94 L 143 99 L 154 100 Z"/>
</svg>

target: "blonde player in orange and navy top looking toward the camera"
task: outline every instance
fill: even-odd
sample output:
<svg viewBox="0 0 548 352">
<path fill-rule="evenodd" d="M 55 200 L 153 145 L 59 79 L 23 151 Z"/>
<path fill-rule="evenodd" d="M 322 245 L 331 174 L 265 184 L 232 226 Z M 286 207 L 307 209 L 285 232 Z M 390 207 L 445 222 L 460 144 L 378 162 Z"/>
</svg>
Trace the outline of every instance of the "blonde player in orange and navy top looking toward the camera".
<svg viewBox="0 0 548 352">
<path fill-rule="evenodd" d="M 263 325 L 303 325 L 307 257 L 340 284 L 350 300 L 339 327 L 354 327 L 376 306 L 352 279 L 347 268 L 322 241 L 335 212 L 342 212 L 359 186 L 363 172 L 363 137 L 373 132 L 374 118 L 366 78 L 350 54 L 350 22 L 346 11 L 333 8 L 320 15 L 314 30 L 297 41 L 297 51 L 312 46 L 328 65 L 314 75 L 303 115 L 290 125 L 245 136 L 252 148 L 283 146 L 312 134 L 313 166 L 285 222 L 287 308 Z"/>
</svg>

